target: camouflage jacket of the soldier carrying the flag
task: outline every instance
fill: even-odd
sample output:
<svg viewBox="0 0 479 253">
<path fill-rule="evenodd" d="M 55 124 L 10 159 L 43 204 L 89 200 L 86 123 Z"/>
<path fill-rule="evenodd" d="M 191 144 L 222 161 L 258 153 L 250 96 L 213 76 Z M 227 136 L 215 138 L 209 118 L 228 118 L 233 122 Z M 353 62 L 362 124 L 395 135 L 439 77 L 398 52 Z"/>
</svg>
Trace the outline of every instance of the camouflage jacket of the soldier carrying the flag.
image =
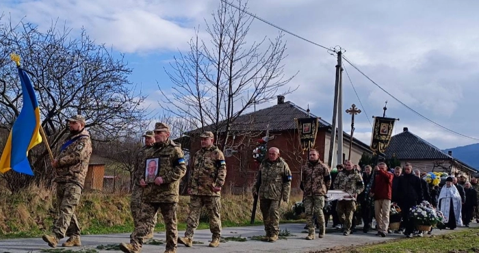
<svg viewBox="0 0 479 253">
<path fill-rule="evenodd" d="M 81 133 L 68 135 L 60 146 L 60 154 L 56 157 L 58 166 L 55 168 L 57 174 L 55 181 L 76 183 L 83 188 L 91 155 L 92 142 L 88 131 L 83 129 Z"/>
</svg>

